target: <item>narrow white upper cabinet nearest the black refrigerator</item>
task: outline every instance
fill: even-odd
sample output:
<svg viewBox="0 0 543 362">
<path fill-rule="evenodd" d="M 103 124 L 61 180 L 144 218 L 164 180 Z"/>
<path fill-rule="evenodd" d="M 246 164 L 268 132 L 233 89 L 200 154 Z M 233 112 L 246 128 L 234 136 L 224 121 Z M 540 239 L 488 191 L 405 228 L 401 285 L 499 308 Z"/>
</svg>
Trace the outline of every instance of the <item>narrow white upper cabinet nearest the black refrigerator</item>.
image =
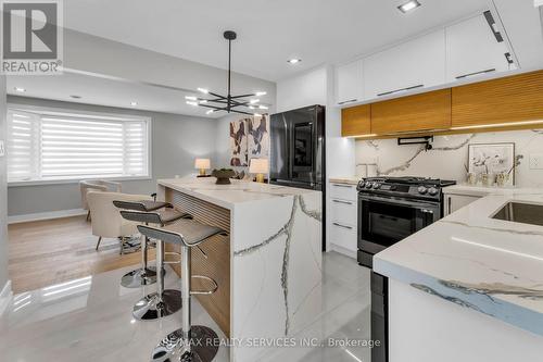
<svg viewBox="0 0 543 362">
<path fill-rule="evenodd" d="M 336 68 L 336 103 L 359 102 L 364 99 L 363 62 L 355 61 Z"/>
</svg>

